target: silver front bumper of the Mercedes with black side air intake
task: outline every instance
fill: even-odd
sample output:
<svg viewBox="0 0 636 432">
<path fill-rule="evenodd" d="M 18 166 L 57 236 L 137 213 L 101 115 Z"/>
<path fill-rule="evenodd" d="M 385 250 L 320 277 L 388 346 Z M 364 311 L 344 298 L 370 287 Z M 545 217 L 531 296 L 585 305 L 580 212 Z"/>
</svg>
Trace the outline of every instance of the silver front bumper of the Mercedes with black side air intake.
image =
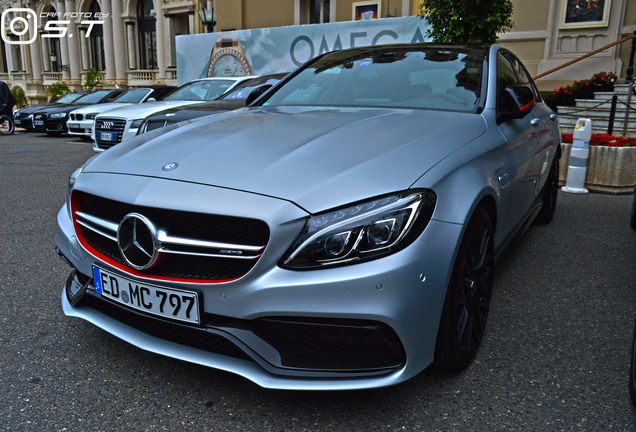
<svg viewBox="0 0 636 432">
<path fill-rule="evenodd" d="M 169 189 L 171 182 L 159 183 Z M 165 187 L 156 187 L 171 195 Z M 245 208 L 259 209 L 272 227 L 268 248 L 247 275 L 199 287 L 208 317 L 204 326 L 152 318 L 94 294 L 91 266 L 98 261 L 79 245 L 63 207 L 56 243 L 80 273 L 78 283 L 87 288 L 85 301 L 75 306 L 62 294 L 66 315 L 90 321 L 142 349 L 234 372 L 269 388 L 382 387 L 405 381 L 432 362 L 461 225 L 432 220 L 413 244 L 393 255 L 345 267 L 291 271 L 277 262 L 302 228 L 299 216 L 304 212 L 288 202 L 242 192 L 200 185 L 187 189 L 198 192 L 203 202 L 227 202 L 231 195 L 235 201 L 240 194 Z M 282 215 L 289 214 L 298 223 L 283 222 Z M 276 246 L 285 238 L 287 242 Z M 176 339 L 169 336 L 174 334 Z M 379 356 L 384 356 L 382 361 Z"/>
</svg>

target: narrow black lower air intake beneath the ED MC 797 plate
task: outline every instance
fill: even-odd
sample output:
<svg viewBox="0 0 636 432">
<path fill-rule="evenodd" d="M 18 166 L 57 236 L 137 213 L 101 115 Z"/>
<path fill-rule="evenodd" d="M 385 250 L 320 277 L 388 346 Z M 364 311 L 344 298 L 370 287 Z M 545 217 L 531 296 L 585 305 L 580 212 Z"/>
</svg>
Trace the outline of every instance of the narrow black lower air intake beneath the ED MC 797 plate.
<svg viewBox="0 0 636 432">
<path fill-rule="evenodd" d="M 249 360 L 249 357 L 234 343 L 223 336 L 207 331 L 205 328 L 191 327 L 142 315 L 114 305 L 108 300 L 98 299 L 94 295 L 84 296 L 81 306 L 93 308 L 114 320 L 159 339 L 215 354 Z"/>
</svg>

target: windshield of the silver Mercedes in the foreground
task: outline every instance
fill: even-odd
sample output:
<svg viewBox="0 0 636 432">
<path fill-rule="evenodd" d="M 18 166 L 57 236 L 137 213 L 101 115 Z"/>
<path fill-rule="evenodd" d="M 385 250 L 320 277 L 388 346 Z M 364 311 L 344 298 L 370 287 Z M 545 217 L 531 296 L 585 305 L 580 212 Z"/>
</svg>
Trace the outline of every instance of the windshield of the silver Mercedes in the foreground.
<svg viewBox="0 0 636 432">
<path fill-rule="evenodd" d="M 484 51 L 373 47 L 334 52 L 300 71 L 263 105 L 475 110 Z"/>
</svg>

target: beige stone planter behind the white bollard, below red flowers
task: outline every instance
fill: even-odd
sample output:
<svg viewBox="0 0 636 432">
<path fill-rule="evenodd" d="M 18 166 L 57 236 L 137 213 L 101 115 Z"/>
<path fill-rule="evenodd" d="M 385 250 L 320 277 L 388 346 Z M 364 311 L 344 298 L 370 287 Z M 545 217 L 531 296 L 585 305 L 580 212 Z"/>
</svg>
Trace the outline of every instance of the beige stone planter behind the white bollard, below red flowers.
<svg viewBox="0 0 636 432">
<path fill-rule="evenodd" d="M 572 144 L 561 144 L 559 184 L 565 185 Z M 636 185 L 636 147 L 590 146 L 585 187 L 613 194 L 633 193 Z"/>
</svg>

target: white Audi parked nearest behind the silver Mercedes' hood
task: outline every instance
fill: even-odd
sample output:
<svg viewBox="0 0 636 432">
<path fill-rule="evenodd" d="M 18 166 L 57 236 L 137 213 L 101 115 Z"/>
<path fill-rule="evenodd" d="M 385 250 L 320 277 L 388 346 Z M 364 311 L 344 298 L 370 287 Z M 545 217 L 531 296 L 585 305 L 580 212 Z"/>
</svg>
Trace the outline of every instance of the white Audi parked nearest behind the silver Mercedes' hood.
<svg viewBox="0 0 636 432">
<path fill-rule="evenodd" d="M 179 87 L 161 101 L 129 105 L 99 114 L 93 128 L 93 149 L 102 152 L 134 137 L 145 118 L 152 114 L 179 105 L 214 100 L 249 78 L 254 77 L 203 78 Z"/>
</svg>

